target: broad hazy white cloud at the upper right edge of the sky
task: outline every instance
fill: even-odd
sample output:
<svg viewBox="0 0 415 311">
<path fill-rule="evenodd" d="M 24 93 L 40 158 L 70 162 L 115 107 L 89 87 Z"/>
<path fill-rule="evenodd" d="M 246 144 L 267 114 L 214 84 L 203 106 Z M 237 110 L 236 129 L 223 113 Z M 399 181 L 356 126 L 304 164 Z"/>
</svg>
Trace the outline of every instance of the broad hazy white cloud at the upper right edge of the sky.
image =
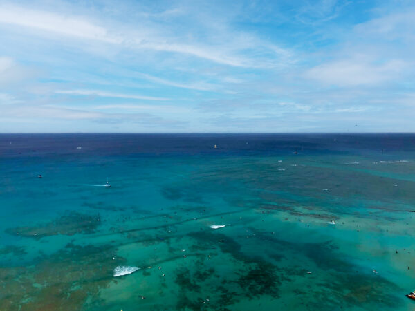
<svg viewBox="0 0 415 311">
<path fill-rule="evenodd" d="M 415 62 L 415 7 L 376 8 L 381 13 L 342 30 L 338 44 L 319 53 L 322 62 L 303 77 L 323 85 L 374 87 L 412 79 Z"/>
</svg>

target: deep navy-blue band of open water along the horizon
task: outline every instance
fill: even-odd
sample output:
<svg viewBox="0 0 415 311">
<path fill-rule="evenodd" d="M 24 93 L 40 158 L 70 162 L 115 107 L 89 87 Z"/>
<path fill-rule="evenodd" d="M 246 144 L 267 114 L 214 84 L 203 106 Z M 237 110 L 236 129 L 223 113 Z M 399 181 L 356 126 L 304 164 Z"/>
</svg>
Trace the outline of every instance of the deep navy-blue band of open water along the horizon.
<svg viewBox="0 0 415 311">
<path fill-rule="evenodd" d="M 76 154 L 264 154 L 415 151 L 414 134 L 0 134 L 2 156 Z M 12 142 L 12 144 L 10 144 Z M 247 144 L 248 143 L 248 144 Z M 85 145 L 86 144 L 86 145 Z M 216 144 L 219 150 L 212 150 Z"/>
</svg>

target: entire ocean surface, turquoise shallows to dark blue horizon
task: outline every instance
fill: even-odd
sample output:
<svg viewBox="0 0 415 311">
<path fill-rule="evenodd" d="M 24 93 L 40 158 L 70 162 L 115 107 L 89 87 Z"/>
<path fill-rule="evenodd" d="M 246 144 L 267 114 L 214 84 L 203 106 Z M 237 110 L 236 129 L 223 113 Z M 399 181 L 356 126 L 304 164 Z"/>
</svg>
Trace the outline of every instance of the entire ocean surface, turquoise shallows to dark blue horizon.
<svg viewBox="0 0 415 311">
<path fill-rule="evenodd" d="M 414 141 L 1 135 L 0 310 L 413 310 Z"/>
</svg>

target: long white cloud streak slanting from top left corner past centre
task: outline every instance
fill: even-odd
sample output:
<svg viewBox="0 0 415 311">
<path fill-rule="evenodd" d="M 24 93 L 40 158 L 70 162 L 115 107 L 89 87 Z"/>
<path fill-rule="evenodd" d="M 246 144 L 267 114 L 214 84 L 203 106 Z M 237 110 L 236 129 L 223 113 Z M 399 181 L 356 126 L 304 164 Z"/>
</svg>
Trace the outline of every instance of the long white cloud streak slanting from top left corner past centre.
<svg viewBox="0 0 415 311">
<path fill-rule="evenodd" d="M 94 49 L 91 41 L 135 50 L 149 49 L 191 55 L 218 64 L 237 67 L 266 68 L 276 66 L 277 63 L 286 63 L 287 57 L 291 57 L 288 50 L 268 44 L 247 33 L 232 30 L 223 33 L 221 38 L 218 38 L 216 33 L 212 33 L 210 36 L 214 38 L 214 41 L 205 44 L 209 40 L 204 40 L 201 44 L 194 37 L 172 36 L 169 32 L 174 33 L 174 30 L 150 21 L 140 21 L 134 24 L 108 22 L 109 26 L 105 27 L 98 25 L 91 18 L 6 4 L 0 5 L 0 23 L 29 28 L 30 33 L 46 32 L 73 39 L 88 39 L 90 41 L 87 45 L 80 44 L 77 47 L 98 55 L 102 53 L 102 48 Z M 60 38 L 54 37 L 53 39 Z M 255 57 L 249 57 L 248 50 L 251 50 Z M 281 59 L 284 59 L 284 62 L 281 62 Z"/>
</svg>

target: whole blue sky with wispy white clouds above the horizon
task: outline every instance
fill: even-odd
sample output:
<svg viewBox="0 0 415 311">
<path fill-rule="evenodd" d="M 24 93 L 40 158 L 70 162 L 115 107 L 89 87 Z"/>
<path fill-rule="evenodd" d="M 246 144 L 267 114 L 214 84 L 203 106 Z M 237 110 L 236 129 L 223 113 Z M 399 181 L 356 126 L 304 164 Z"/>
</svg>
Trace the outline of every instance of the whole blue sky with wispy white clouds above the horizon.
<svg viewBox="0 0 415 311">
<path fill-rule="evenodd" d="M 415 131 L 415 2 L 0 0 L 0 133 Z"/>
</svg>

